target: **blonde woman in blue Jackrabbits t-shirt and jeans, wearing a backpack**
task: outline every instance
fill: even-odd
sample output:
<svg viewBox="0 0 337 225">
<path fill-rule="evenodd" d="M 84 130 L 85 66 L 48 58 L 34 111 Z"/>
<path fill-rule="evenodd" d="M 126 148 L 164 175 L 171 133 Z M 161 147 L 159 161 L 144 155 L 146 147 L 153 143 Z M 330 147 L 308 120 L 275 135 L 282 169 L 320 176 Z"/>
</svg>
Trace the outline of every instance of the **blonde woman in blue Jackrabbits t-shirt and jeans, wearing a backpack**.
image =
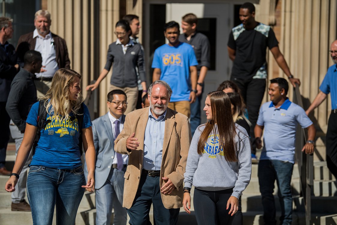
<svg viewBox="0 0 337 225">
<path fill-rule="evenodd" d="M 13 173 L 5 185 L 6 191 L 15 191 L 35 140 L 38 121 L 42 119 L 38 116 L 41 115 L 39 110 L 45 110 L 46 123 L 40 130 L 27 178 L 27 197 L 34 225 L 51 225 L 55 205 L 56 224 L 73 225 L 85 188 L 91 188 L 95 183 L 92 124 L 89 110 L 82 104 L 81 77 L 71 69 L 57 70 L 51 88 L 42 97 L 41 108 L 40 102 L 32 105 Z M 80 141 L 83 141 L 87 162 L 88 183 L 82 168 Z"/>
</svg>

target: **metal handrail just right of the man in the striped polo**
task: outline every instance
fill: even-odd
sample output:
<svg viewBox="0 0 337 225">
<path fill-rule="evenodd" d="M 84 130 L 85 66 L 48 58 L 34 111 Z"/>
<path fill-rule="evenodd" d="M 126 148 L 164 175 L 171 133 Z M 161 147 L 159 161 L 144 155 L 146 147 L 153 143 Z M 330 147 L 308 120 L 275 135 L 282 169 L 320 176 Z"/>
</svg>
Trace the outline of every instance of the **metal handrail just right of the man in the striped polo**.
<svg viewBox="0 0 337 225">
<path fill-rule="evenodd" d="M 302 96 L 298 84 L 294 88 L 293 102 L 303 108 Z M 313 192 L 313 155 L 305 154 L 302 148 L 307 140 L 306 130 L 299 124 L 296 129 L 295 160 L 300 173 L 301 196 L 304 198 L 305 221 L 311 220 L 311 193 Z"/>
</svg>

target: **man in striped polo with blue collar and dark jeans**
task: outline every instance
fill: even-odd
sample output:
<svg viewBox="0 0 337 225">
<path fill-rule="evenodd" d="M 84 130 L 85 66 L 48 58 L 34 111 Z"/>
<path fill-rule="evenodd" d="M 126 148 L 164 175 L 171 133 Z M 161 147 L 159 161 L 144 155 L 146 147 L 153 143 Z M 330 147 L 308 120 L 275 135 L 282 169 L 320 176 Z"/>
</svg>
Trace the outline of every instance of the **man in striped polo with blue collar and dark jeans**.
<svg viewBox="0 0 337 225">
<path fill-rule="evenodd" d="M 276 224 L 273 196 L 276 180 L 282 212 L 280 224 L 290 225 L 293 212 L 290 181 L 294 165 L 296 125 L 299 123 L 308 130 L 308 141 L 302 149 L 306 154 L 313 153 L 316 129 L 304 109 L 286 97 L 288 82 L 278 77 L 270 83 L 268 94 L 271 101 L 261 106 L 254 129 L 257 148 L 262 146 L 261 136 L 265 129 L 257 174 L 262 195 L 263 219 L 265 224 Z"/>
</svg>

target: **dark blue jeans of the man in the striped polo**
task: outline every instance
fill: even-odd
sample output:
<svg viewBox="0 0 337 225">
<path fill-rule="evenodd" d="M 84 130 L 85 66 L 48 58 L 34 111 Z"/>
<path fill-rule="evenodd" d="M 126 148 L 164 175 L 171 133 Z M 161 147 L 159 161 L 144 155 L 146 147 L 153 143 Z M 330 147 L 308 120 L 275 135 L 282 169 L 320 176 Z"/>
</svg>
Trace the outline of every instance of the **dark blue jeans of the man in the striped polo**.
<svg viewBox="0 0 337 225">
<path fill-rule="evenodd" d="M 273 196 L 275 180 L 281 205 L 280 224 L 292 224 L 293 198 L 290 190 L 290 181 L 292 179 L 293 166 L 293 163 L 280 160 L 260 160 L 258 162 L 257 176 L 262 195 L 263 219 L 266 225 L 276 224 L 276 209 Z"/>
</svg>

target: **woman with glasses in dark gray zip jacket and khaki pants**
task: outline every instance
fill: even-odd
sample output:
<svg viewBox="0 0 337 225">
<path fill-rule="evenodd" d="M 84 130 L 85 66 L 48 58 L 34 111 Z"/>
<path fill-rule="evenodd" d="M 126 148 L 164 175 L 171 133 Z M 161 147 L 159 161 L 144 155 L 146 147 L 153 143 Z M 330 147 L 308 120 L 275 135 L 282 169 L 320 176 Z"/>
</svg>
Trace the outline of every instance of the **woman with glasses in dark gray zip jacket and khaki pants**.
<svg viewBox="0 0 337 225">
<path fill-rule="evenodd" d="M 128 107 L 124 114 L 133 111 L 138 99 L 138 69 L 143 94 L 147 94 L 146 76 L 144 72 L 143 50 L 140 44 L 134 43 L 130 39 L 131 28 L 126 20 L 120 20 L 116 23 L 115 35 L 117 41 L 109 45 L 108 54 L 106 56 L 106 64 L 101 74 L 97 78 L 95 84 L 88 85 L 86 90 L 95 90 L 100 82 L 108 75 L 113 65 L 112 76 L 110 80 L 110 91 L 120 89 L 125 92 Z"/>
</svg>

